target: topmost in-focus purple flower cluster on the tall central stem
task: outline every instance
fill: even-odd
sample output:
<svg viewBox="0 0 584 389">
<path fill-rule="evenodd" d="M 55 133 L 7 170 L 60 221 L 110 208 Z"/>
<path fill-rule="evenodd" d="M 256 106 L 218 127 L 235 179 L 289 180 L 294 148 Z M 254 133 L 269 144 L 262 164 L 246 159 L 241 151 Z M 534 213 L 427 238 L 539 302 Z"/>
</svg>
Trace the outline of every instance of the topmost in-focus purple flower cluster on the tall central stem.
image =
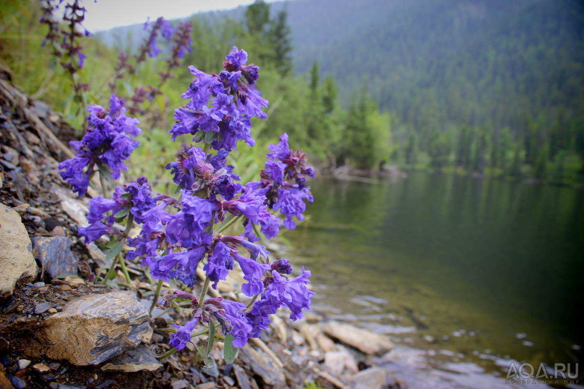
<svg viewBox="0 0 584 389">
<path fill-rule="evenodd" d="M 259 68 L 246 65 L 248 53 L 235 46 L 225 59 L 225 70 L 218 75 L 189 66 L 195 78 L 182 94 L 189 103 L 175 110 L 176 124 L 169 131 L 173 140 L 179 135 L 192 134 L 195 142 L 204 141 L 215 150 L 227 151 L 237 150 L 239 140 L 255 145 L 249 119 L 266 118 L 262 108 L 268 104 L 254 86 Z"/>
</svg>

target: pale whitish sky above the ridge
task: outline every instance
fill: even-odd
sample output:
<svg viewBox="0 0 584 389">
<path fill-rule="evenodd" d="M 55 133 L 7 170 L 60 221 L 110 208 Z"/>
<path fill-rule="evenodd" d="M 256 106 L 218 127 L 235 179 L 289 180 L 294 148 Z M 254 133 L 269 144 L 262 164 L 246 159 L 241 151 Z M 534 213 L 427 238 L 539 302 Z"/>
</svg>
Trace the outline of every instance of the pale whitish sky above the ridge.
<svg viewBox="0 0 584 389">
<path fill-rule="evenodd" d="M 144 23 L 149 16 L 151 20 L 159 16 L 175 19 L 200 11 L 230 9 L 251 3 L 253 0 L 85 0 L 84 26 L 95 33 L 116 26 Z"/>
</svg>

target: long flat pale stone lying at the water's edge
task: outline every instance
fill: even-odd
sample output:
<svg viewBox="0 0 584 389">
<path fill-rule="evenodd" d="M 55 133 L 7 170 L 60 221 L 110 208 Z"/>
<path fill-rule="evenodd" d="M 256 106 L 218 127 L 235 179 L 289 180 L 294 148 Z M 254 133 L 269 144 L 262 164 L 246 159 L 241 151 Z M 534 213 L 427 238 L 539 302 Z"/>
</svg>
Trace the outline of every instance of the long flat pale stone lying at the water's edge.
<svg viewBox="0 0 584 389">
<path fill-rule="evenodd" d="M 366 354 L 381 355 L 394 348 L 394 344 L 385 335 L 361 330 L 349 324 L 329 321 L 321 326 L 322 331 L 331 338 L 339 339 Z"/>
</svg>

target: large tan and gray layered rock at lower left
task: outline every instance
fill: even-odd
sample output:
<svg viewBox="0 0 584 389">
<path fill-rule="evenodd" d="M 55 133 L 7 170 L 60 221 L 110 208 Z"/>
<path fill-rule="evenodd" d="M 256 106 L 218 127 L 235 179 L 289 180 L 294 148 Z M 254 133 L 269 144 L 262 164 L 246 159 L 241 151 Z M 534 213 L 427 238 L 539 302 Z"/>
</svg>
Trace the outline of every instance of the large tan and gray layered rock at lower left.
<svg viewBox="0 0 584 389">
<path fill-rule="evenodd" d="M 36 335 L 48 345 L 47 358 L 86 366 L 135 349 L 149 327 L 144 305 L 134 293 L 120 291 L 71 300 Z"/>
</svg>

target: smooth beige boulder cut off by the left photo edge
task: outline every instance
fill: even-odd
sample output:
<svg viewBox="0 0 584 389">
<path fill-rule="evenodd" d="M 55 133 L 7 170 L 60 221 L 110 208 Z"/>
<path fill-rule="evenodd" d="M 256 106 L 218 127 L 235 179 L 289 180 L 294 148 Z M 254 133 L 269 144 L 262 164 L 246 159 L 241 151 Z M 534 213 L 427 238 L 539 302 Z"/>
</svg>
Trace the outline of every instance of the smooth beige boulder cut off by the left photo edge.
<svg viewBox="0 0 584 389">
<path fill-rule="evenodd" d="M 16 281 L 33 281 L 37 273 L 29 234 L 20 215 L 0 204 L 0 297 L 12 295 Z"/>
</svg>

